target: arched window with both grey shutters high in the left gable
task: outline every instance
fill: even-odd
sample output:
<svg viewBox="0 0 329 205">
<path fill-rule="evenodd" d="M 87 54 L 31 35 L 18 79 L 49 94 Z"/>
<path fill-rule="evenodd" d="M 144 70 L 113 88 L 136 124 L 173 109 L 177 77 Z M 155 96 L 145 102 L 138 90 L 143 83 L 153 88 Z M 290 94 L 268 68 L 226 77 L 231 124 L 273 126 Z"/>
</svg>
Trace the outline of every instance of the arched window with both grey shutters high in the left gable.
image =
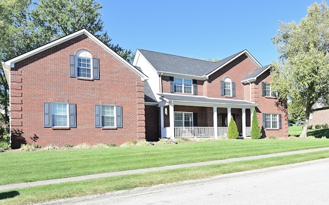
<svg viewBox="0 0 329 205">
<path fill-rule="evenodd" d="M 99 79 L 99 59 L 93 58 L 85 50 L 80 50 L 77 55 L 70 55 L 70 77 L 79 79 Z"/>
</svg>

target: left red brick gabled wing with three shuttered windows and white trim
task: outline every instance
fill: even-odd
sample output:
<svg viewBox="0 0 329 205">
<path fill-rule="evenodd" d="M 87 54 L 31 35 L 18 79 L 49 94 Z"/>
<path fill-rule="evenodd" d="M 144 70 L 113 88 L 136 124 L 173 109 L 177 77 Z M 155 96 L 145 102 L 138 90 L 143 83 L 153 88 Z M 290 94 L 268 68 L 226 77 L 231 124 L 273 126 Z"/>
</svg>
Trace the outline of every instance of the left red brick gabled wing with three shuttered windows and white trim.
<svg viewBox="0 0 329 205">
<path fill-rule="evenodd" d="M 2 63 L 12 148 L 145 139 L 146 75 L 82 29 Z"/>
</svg>

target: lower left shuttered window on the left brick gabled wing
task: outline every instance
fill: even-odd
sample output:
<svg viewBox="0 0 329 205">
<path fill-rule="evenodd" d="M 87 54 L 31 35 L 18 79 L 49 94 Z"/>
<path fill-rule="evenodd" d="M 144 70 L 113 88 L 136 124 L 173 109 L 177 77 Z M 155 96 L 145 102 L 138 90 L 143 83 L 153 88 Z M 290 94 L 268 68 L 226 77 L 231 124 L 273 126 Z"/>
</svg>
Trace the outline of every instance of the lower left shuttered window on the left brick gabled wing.
<svg viewBox="0 0 329 205">
<path fill-rule="evenodd" d="M 76 104 L 44 103 L 44 127 L 76 128 Z"/>
</svg>

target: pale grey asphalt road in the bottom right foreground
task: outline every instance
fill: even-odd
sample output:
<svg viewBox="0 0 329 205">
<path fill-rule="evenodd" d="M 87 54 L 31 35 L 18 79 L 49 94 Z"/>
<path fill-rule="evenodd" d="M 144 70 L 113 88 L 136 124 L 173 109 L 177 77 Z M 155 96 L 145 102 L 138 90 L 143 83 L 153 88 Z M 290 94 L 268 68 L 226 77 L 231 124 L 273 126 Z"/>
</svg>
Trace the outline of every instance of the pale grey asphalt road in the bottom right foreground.
<svg viewBox="0 0 329 205">
<path fill-rule="evenodd" d="M 329 204 L 329 159 L 43 204 Z"/>
</svg>

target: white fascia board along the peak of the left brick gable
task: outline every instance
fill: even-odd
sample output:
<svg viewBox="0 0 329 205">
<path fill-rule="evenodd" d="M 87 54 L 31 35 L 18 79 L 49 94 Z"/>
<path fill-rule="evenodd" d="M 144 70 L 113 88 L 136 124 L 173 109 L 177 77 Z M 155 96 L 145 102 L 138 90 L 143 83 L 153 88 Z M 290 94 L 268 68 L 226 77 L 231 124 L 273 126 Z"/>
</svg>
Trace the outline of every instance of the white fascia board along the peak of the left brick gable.
<svg viewBox="0 0 329 205">
<path fill-rule="evenodd" d="M 130 63 L 128 63 L 125 59 L 123 59 L 119 54 L 117 54 L 116 52 L 114 52 L 111 48 L 109 48 L 108 46 L 106 46 L 104 43 L 102 43 L 97 37 L 95 37 L 93 34 L 91 34 L 89 31 L 87 31 L 86 29 L 81 29 L 77 32 L 71 33 L 69 35 L 66 35 L 64 37 L 61 37 L 57 40 L 54 40 L 53 42 L 50 42 L 48 44 L 45 44 L 39 48 L 36 48 L 32 51 L 29 51 L 27 53 L 24 53 L 22 55 L 19 55 L 17 57 L 14 57 L 10 60 L 7 60 L 5 62 L 5 65 L 10 65 L 11 68 L 15 67 L 15 63 L 21 60 L 24 60 L 30 56 L 33 56 L 35 54 L 38 54 L 42 51 L 45 51 L 49 48 L 52 48 L 54 46 L 57 46 L 59 44 L 62 44 L 64 42 L 67 42 L 70 39 L 73 39 L 77 36 L 80 36 L 82 34 L 85 34 L 86 36 L 88 36 L 89 38 L 93 39 L 94 42 L 96 42 L 99 46 L 101 46 L 102 48 L 104 48 L 104 50 L 106 50 L 107 52 L 111 53 L 114 57 L 116 57 L 119 61 L 121 61 L 121 63 L 123 63 L 124 65 L 126 65 L 127 67 L 129 67 L 131 70 L 133 70 L 136 74 L 138 74 L 141 77 L 142 81 L 148 80 L 149 78 L 144 75 L 142 72 L 140 72 L 138 69 L 136 69 L 133 65 L 131 65 Z"/>
</svg>

